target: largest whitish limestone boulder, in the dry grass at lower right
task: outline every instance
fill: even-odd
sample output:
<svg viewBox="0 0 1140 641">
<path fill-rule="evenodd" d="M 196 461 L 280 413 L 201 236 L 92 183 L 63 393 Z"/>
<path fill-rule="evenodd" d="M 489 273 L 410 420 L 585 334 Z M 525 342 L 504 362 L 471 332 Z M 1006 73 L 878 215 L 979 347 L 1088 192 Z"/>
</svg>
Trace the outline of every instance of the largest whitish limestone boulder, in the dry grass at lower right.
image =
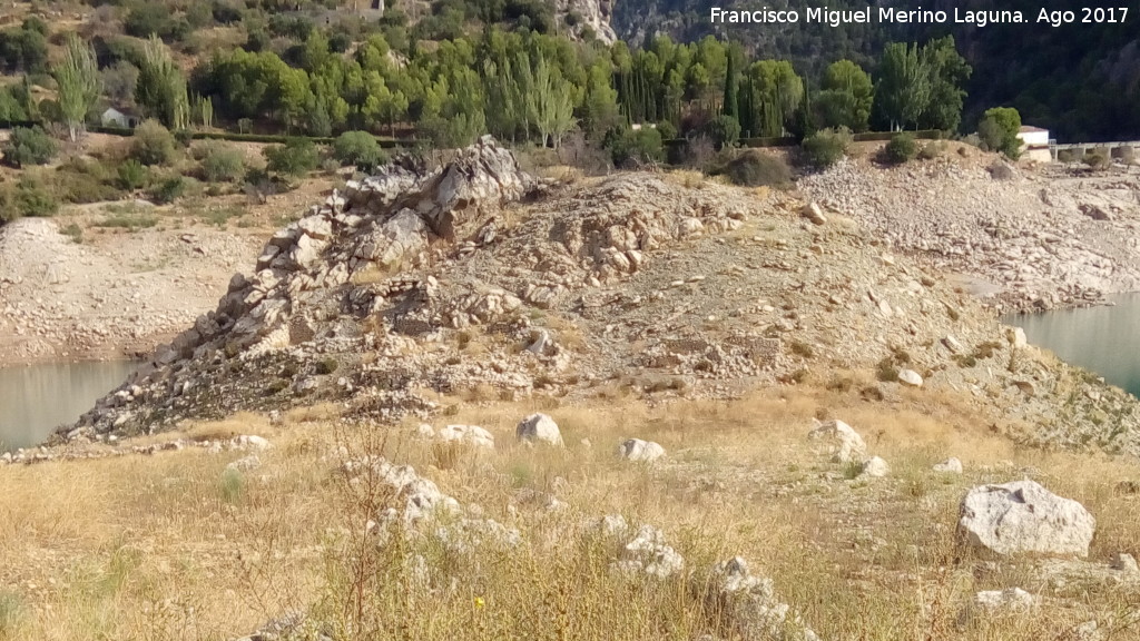
<svg viewBox="0 0 1140 641">
<path fill-rule="evenodd" d="M 975 487 L 962 500 L 959 533 L 999 554 L 1089 555 L 1097 520 L 1083 505 L 1032 480 Z"/>
</svg>

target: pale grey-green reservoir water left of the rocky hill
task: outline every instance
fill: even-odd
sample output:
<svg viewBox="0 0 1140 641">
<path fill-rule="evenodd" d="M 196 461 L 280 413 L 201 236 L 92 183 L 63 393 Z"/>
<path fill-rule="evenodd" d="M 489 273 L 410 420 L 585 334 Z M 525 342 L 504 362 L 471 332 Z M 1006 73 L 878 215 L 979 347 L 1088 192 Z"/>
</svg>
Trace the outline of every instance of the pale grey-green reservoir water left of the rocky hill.
<svg viewBox="0 0 1140 641">
<path fill-rule="evenodd" d="M 39 445 L 135 370 L 130 360 L 0 367 L 0 452 Z"/>
</svg>

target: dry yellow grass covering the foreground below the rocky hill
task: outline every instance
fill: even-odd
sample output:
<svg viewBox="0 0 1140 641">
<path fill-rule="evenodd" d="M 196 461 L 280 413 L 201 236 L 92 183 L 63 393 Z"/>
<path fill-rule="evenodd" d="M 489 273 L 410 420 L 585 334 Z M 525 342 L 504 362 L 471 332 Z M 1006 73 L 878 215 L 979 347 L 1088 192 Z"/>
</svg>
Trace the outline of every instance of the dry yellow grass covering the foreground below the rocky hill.
<svg viewBox="0 0 1140 641">
<path fill-rule="evenodd" d="M 538 397 L 441 401 L 453 409 L 437 427 L 482 425 L 497 448 L 414 440 L 412 421 L 347 428 L 319 408 L 278 427 L 250 415 L 186 430 L 270 438 L 262 465 L 242 474 L 223 470 L 244 453 L 203 449 L 0 468 L 0 639 L 228 639 L 290 610 L 308 610 L 349 639 L 690 640 L 724 632 L 687 578 L 654 586 L 609 571 L 614 550 L 581 534 L 584 522 L 606 513 L 660 527 L 689 570 L 746 557 L 825 639 L 1062 639 L 1140 600 L 1133 584 L 1056 587 L 1040 563 L 991 565 L 958 547 L 964 490 L 1032 466 L 1047 487 L 1097 516 L 1092 561 L 1140 554 L 1135 498 L 1114 492 L 1135 478 L 1133 462 L 1019 448 L 966 398 L 913 392 L 887 406 L 860 399 L 855 386 L 656 407 L 620 398 L 573 407 Z M 515 424 L 532 411 L 555 417 L 564 449 L 514 443 Z M 846 470 L 805 439 L 821 415 L 861 431 L 891 476 L 844 480 Z M 668 461 L 620 462 L 614 449 L 628 437 L 661 443 Z M 369 543 L 364 524 L 384 497 L 361 497 L 344 482 L 344 452 L 413 464 L 461 504 L 519 528 L 526 544 L 469 557 L 430 537 Z M 930 471 L 951 455 L 966 474 Z M 527 489 L 555 494 L 568 508 L 531 505 L 520 495 Z M 455 579 L 455 589 L 429 592 L 413 581 L 416 554 L 429 560 L 433 581 Z M 962 618 L 974 592 L 1007 586 L 1047 594 L 1049 607 Z"/>
</svg>

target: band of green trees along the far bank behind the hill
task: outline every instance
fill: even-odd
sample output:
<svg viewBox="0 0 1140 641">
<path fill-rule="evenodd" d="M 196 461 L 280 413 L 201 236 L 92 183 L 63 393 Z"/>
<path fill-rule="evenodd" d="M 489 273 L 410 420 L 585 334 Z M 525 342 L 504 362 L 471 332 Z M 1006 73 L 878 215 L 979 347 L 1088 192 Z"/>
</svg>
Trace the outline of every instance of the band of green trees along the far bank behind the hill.
<svg viewBox="0 0 1140 641">
<path fill-rule="evenodd" d="M 479 10 L 495 16 L 515 7 L 484 5 Z M 610 149 L 638 136 L 703 136 L 723 146 L 822 128 L 954 132 L 971 73 L 948 36 L 890 43 L 870 70 L 839 59 L 805 78 L 788 60 L 749 59 L 740 43 L 712 36 L 693 43 L 658 36 L 630 48 L 492 24 L 472 38 L 429 42 L 389 29 L 345 42 L 332 29 L 287 16 L 276 21 L 276 41 L 251 24 L 243 47 L 199 56 L 184 70 L 163 40 L 169 33 L 148 19 L 157 16 L 128 21 L 135 33 L 153 29 L 142 41 L 68 36 L 51 71 L 57 99 L 33 100 L 25 76 L 0 90 L 0 120 L 57 121 L 74 137 L 109 102 L 135 105 L 172 130 L 256 124 L 320 137 L 365 130 L 415 133 L 440 147 L 487 132 L 559 147 L 577 133 Z M 32 18 L 0 33 L 0 65 L 42 75 L 36 55 L 2 47 L 39 41 L 28 34 L 42 39 L 42 23 Z M 656 133 L 635 133 L 646 129 Z"/>
</svg>

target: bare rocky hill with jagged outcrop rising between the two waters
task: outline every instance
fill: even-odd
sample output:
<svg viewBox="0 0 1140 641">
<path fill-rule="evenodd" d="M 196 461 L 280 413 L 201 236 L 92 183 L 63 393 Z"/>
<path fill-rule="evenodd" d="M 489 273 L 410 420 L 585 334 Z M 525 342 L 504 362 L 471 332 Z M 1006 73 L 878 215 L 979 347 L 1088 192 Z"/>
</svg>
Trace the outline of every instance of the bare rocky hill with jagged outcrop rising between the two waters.
<svg viewBox="0 0 1140 641">
<path fill-rule="evenodd" d="M 1027 347 L 873 228 L 692 177 L 545 184 L 490 139 L 315 206 L 62 436 L 316 403 L 389 422 L 455 393 L 735 398 L 805 381 L 885 406 L 907 387 L 963 396 L 1019 439 L 1140 453 L 1133 398 Z"/>
</svg>

